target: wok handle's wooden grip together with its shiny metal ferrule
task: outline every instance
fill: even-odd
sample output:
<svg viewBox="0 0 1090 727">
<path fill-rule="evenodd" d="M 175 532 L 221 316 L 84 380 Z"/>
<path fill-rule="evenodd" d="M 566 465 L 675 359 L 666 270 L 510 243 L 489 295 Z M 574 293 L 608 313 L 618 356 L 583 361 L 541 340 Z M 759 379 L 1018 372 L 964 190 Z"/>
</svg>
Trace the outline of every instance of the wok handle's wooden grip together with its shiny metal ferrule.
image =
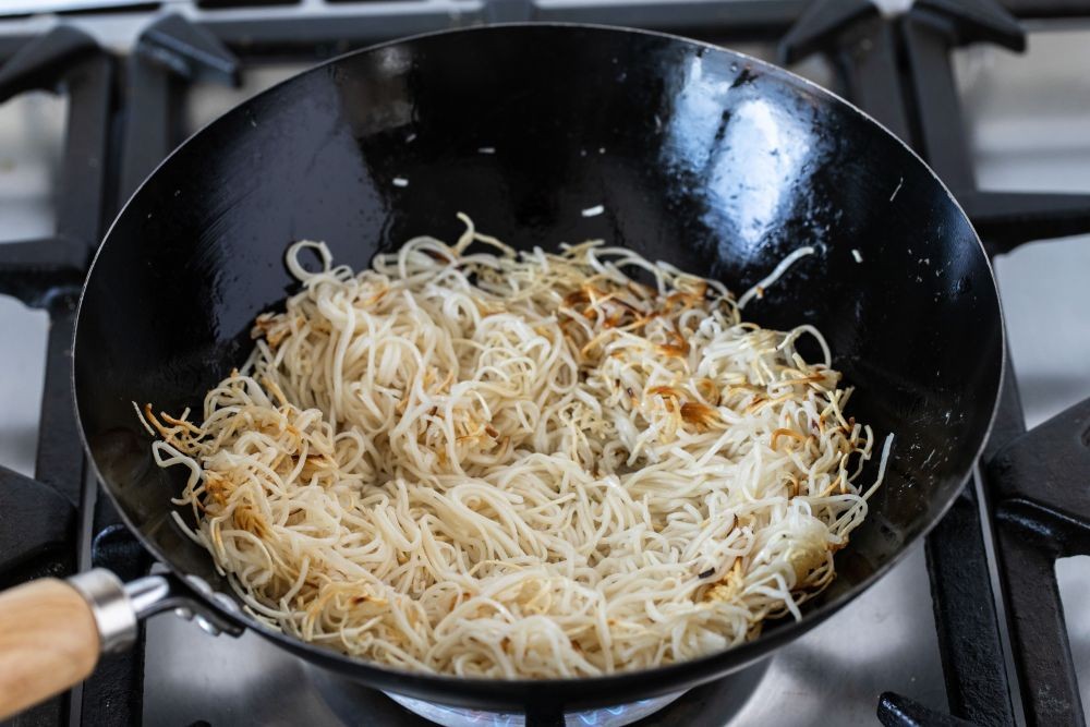
<svg viewBox="0 0 1090 727">
<path fill-rule="evenodd" d="M 99 654 L 135 635 L 136 613 L 109 571 L 0 593 L 0 720 L 83 681 Z"/>
</svg>

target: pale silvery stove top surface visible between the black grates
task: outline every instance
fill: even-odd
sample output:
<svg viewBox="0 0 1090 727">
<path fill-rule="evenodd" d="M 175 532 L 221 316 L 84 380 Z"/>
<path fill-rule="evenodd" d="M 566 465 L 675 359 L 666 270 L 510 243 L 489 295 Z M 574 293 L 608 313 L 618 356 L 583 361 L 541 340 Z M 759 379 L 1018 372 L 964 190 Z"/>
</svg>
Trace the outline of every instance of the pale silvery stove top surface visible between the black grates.
<svg viewBox="0 0 1090 727">
<path fill-rule="evenodd" d="M 146 22 L 147 16 L 110 20 L 88 29 L 123 46 Z M 760 47 L 739 49 L 767 53 Z M 1090 66 L 1090 29 L 1036 33 L 1025 57 L 974 50 L 964 53 L 958 66 L 983 187 L 1090 192 L 1090 108 L 1085 104 L 1090 77 L 1082 71 Z M 247 72 L 241 90 L 202 87 L 187 108 L 191 126 L 298 68 Z M 821 64 L 802 71 L 826 80 Z M 39 94 L 0 107 L 0 240 L 51 231 L 63 107 Z M 1088 271 L 1090 239 L 1026 245 L 997 265 L 1030 425 L 1090 396 Z M 0 296 L 0 331 L 9 341 L 0 354 L 0 464 L 25 474 L 33 474 L 47 325 L 44 313 Z M 1086 560 L 1065 560 L 1057 571 L 1083 702 L 1090 703 Z M 343 724 L 308 674 L 253 634 L 214 639 L 172 616 L 156 617 L 148 623 L 145 722 L 168 727 L 202 720 L 217 727 Z M 729 724 L 875 724 L 883 691 L 946 708 L 922 547 L 839 615 L 779 651 Z M 714 715 L 710 719 L 718 724 Z M 359 722 L 366 723 L 367 715 Z"/>
</svg>

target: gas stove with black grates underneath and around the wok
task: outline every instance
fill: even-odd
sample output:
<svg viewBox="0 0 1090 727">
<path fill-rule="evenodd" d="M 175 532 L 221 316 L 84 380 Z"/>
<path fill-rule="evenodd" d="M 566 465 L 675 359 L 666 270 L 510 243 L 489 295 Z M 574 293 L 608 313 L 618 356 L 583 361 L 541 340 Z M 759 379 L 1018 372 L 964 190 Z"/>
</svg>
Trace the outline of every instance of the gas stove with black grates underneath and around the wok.
<svg viewBox="0 0 1090 727">
<path fill-rule="evenodd" d="M 994 257 L 1008 368 L 965 493 L 879 584 L 740 675 L 567 724 L 1082 724 L 1090 238 L 1073 235 L 1090 232 L 1090 1 L 885 10 L 895 4 L 897 14 L 865 0 L 0 3 L 0 586 L 154 567 L 87 477 L 69 347 L 100 235 L 171 148 L 254 93 L 372 43 L 497 22 L 627 25 L 787 64 L 909 142 Z M 521 719 L 398 701 L 254 634 L 216 638 L 164 615 L 135 650 L 13 722 L 428 724 L 414 712 L 440 724 Z"/>
</svg>

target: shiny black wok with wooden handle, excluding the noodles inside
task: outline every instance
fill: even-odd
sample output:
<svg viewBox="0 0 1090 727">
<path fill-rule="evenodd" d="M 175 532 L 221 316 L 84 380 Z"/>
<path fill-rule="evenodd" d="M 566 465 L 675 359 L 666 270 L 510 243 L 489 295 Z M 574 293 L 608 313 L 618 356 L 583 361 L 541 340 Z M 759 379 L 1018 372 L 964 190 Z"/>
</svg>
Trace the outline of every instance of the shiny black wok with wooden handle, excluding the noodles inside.
<svg viewBox="0 0 1090 727">
<path fill-rule="evenodd" d="M 458 211 L 517 247 L 603 238 L 739 292 L 818 246 L 747 316 L 818 326 L 858 389 L 850 413 L 895 440 L 870 517 L 802 620 L 691 662 L 543 683 L 399 671 L 239 608 L 169 517 L 184 475 L 153 464 L 132 402 L 199 407 L 244 360 L 254 317 L 294 290 L 290 242 L 325 240 L 359 269 L 415 234 L 455 238 Z M 193 136 L 106 235 L 75 335 L 78 417 L 102 488 L 170 573 L 122 587 L 93 571 L 7 593 L 0 633 L 21 620 L 16 638 L 0 637 L 0 712 L 77 681 L 138 618 L 177 606 L 367 686 L 453 705 L 556 715 L 722 677 L 832 616 L 935 524 L 986 436 L 1003 351 L 988 259 L 946 187 L 875 121 L 778 68 L 661 34 L 564 25 L 343 56 Z"/>
</svg>

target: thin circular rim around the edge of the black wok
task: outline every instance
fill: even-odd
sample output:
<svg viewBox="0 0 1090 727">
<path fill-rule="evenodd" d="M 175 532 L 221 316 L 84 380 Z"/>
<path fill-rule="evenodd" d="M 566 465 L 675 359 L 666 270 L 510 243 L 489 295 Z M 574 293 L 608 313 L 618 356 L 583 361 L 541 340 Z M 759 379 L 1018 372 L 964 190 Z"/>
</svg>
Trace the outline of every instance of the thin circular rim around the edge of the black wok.
<svg viewBox="0 0 1090 727">
<path fill-rule="evenodd" d="M 772 653 L 777 651 L 779 647 L 795 641 L 799 637 L 803 635 L 812 628 L 823 623 L 831 616 L 839 611 L 846 605 L 855 601 L 857 597 L 862 595 L 865 591 L 870 590 L 874 583 L 884 578 L 893 568 L 898 566 L 907 555 L 912 550 L 912 548 L 934 529 L 941 520 L 946 516 L 949 509 L 953 507 L 954 502 L 957 500 L 959 493 L 965 488 L 965 484 L 972 476 L 976 462 L 978 462 L 983 453 L 984 447 L 991 436 L 992 428 L 995 424 L 996 413 L 1000 407 L 1001 392 L 1003 391 L 1003 385 L 1007 376 L 1007 331 L 1006 322 L 1003 313 L 1003 302 L 1000 298 L 998 286 L 995 280 L 995 270 L 992 265 L 991 258 L 988 256 L 988 252 L 980 240 L 980 235 L 972 225 L 972 220 L 966 214 L 964 207 L 958 202 L 958 199 L 950 192 L 949 187 L 943 182 L 937 173 L 928 165 L 923 158 L 912 149 L 906 142 L 900 137 L 889 131 L 884 124 L 874 119 L 872 116 L 860 109 L 858 106 L 851 101 L 845 99 L 840 95 L 832 92 L 824 86 L 821 86 L 813 81 L 804 78 L 791 71 L 784 69 L 779 65 L 771 63 L 768 61 L 754 58 L 747 53 L 725 48 L 723 46 L 717 46 L 712 43 L 697 40 L 693 38 L 688 38 L 685 36 L 664 33 L 661 31 L 649 31 L 643 28 L 633 28 L 627 26 L 618 25 L 606 25 L 597 23 L 564 23 L 564 22 L 513 22 L 513 23 L 495 23 L 487 25 L 476 25 L 460 28 L 445 28 L 439 31 L 431 31 L 426 33 L 414 34 L 410 36 L 392 38 L 390 40 L 385 40 L 374 45 L 366 46 L 364 48 L 359 48 L 344 53 L 340 53 L 332 58 L 329 58 L 320 63 L 295 73 L 288 78 L 284 78 L 272 86 L 263 89 L 262 92 L 251 96 L 250 98 L 235 105 L 221 116 L 207 122 L 198 130 L 193 132 L 187 136 L 181 144 L 174 147 L 164 159 L 156 165 L 156 167 L 148 172 L 147 177 L 140 183 L 140 185 L 132 192 L 125 203 L 119 208 L 118 213 L 114 215 L 113 220 L 110 222 L 109 228 L 102 234 L 101 242 L 95 251 L 95 255 L 92 263 L 87 269 L 87 276 L 84 280 L 84 284 L 80 291 L 80 299 L 75 311 L 75 325 L 73 326 L 72 336 L 72 367 L 70 373 L 70 386 L 72 389 L 72 401 L 75 409 L 75 417 L 78 423 L 80 429 L 80 440 L 83 445 L 84 453 L 90 467 L 90 471 L 95 476 L 96 483 L 100 485 L 100 489 L 106 493 L 110 501 L 117 509 L 122 522 L 129 532 L 136 537 L 141 545 L 160 564 L 166 566 L 169 571 L 178 578 L 179 581 L 184 582 L 185 578 L 189 575 L 185 571 L 179 568 L 173 560 L 165 554 L 158 545 L 147 538 L 143 532 L 136 526 L 134 526 L 132 518 L 125 507 L 119 501 L 118 497 L 114 496 L 113 487 L 107 484 L 109 481 L 102 476 L 98 468 L 98 463 L 95 460 L 94 453 L 92 451 L 89 441 L 87 439 L 87 431 L 85 428 L 84 422 L 80 416 L 80 405 L 78 405 L 78 388 L 75 380 L 75 372 L 78 366 L 77 354 L 80 352 L 76 347 L 76 341 L 78 338 L 78 331 L 81 323 L 83 320 L 83 304 L 85 296 L 87 294 L 88 282 L 95 274 L 95 268 L 98 264 L 99 257 L 102 254 L 102 250 L 106 247 L 107 243 L 112 235 L 114 228 L 118 226 L 119 221 L 130 214 L 130 208 L 135 208 L 134 202 L 137 196 L 140 196 L 143 189 L 150 182 L 153 178 L 159 175 L 160 171 L 174 158 L 175 155 L 183 153 L 185 147 L 187 147 L 197 136 L 205 134 L 209 129 L 216 124 L 225 121 L 227 118 L 232 117 L 238 113 L 244 113 L 254 101 L 258 98 L 265 97 L 266 95 L 271 95 L 279 92 L 283 86 L 296 82 L 299 78 L 314 74 L 322 73 L 325 69 L 330 68 L 335 64 L 343 62 L 348 58 L 355 56 L 362 56 L 365 53 L 371 53 L 384 48 L 389 48 L 392 46 L 398 46 L 402 44 L 417 43 L 420 40 L 426 40 L 433 37 L 443 37 L 451 35 L 471 35 L 475 33 L 496 33 L 507 29 L 525 29 L 525 28 L 549 28 L 556 31 L 562 29 L 581 29 L 581 31 L 592 31 L 595 33 L 608 33 L 615 35 L 644 35 L 656 38 L 662 38 L 669 40 L 675 44 L 683 44 L 691 46 L 697 49 L 704 49 L 706 51 L 714 51 L 717 53 L 726 53 L 730 57 L 737 58 L 739 61 L 752 64 L 755 68 L 762 69 L 766 74 L 778 76 L 782 82 L 787 82 L 787 85 L 796 84 L 800 85 L 818 96 L 825 97 L 832 102 L 843 105 L 853 113 L 861 117 L 870 125 L 877 130 L 877 133 L 885 134 L 896 144 L 901 146 L 910 156 L 915 159 L 923 169 L 928 171 L 931 178 L 938 185 L 941 190 L 949 202 L 953 204 L 954 209 L 961 216 L 965 222 L 968 225 L 968 229 L 972 233 L 972 239 L 979 247 L 980 255 L 983 259 L 985 269 L 988 270 L 988 279 L 991 282 L 989 287 L 989 292 L 993 294 L 996 304 L 996 318 L 995 322 L 998 325 L 998 358 L 994 362 L 998 365 L 998 376 L 995 380 L 995 390 L 990 395 L 992 398 L 992 408 L 988 417 L 988 424 L 981 429 L 980 441 L 974 448 L 974 455 L 972 457 L 972 462 L 969 469 L 964 475 L 959 477 L 960 484 L 958 487 L 952 490 L 952 494 L 945 502 L 937 508 L 934 514 L 927 520 L 924 525 L 919 532 L 915 533 L 912 536 L 906 538 L 898 547 L 898 550 L 889 557 L 888 560 L 880 565 L 874 569 L 869 575 L 863 580 L 852 585 L 849 590 L 839 594 L 835 598 L 821 604 L 812 609 L 803 609 L 801 620 L 784 620 L 775 626 L 770 631 L 764 631 L 753 641 L 749 641 L 737 646 L 730 646 L 728 649 L 714 652 L 712 654 L 705 654 L 703 656 L 687 659 L 683 662 L 677 662 L 673 664 L 666 664 L 657 666 L 650 669 L 640 669 L 634 671 L 616 671 L 608 675 L 594 676 L 594 677 L 565 677 L 565 678 L 549 678 L 549 679 L 502 679 L 502 678 L 482 678 L 482 677 L 459 677 L 446 674 L 429 674 L 412 671 L 409 669 L 400 669 L 396 667 L 390 667 L 382 665 L 378 663 L 370 662 L 363 658 L 349 656 L 338 651 L 331 649 L 326 649 L 318 646 L 311 642 L 304 641 L 302 639 L 295 638 L 293 635 L 287 634 L 282 631 L 272 629 L 271 627 L 261 622 L 256 618 L 245 615 L 243 611 L 232 611 L 231 609 L 225 608 L 216 602 L 216 599 L 205 594 L 195 593 L 199 596 L 201 602 L 207 607 L 213 609 L 222 618 L 226 618 L 229 622 L 242 627 L 245 630 L 252 630 L 255 633 L 262 635 L 263 638 L 271 641 L 277 646 L 287 650 L 289 653 L 306 659 L 313 664 L 319 665 L 324 668 L 330 668 L 342 675 L 349 676 L 358 681 L 372 682 L 368 686 L 373 686 L 376 689 L 383 691 L 393 691 L 396 693 L 407 693 L 411 695 L 420 695 L 425 691 L 434 691 L 439 695 L 436 700 L 437 703 L 455 704 L 458 702 L 462 703 L 494 703 L 496 706 L 501 705 L 526 705 L 532 701 L 547 700 L 549 702 L 557 702 L 561 700 L 564 694 L 569 692 L 574 692 L 580 695 L 585 694 L 619 694 L 628 692 L 622 696 L 625 701 L 634 701 L 643 695 L 652 695 L 657 693 L 666 693 L 669 691 L 675 691 L 679 688 L 692 689 L 701 683 L 712 681 L 714 679 L 722 678 L 730 673 L 741 670 L 754 663 L 770 656 Z M 255 314 L 256 315 L 256 314 Z M 983 362 L 982 363 L 986 363 Z M 896 440 L 895 440 L 896 443 Z M 233 599 L 233 596 L 232 596 Z M 647 682 L 642 684 L 640 682 Z M 409 687 L 407 691 L 401 691 L 401 683 Z M 417 687 L 420 689 L 417 689 Z M 501 698 L 502 693 L 507 693 L 509 699 Z M 537 699 L 520 699 L 521 694 L 533 694 L 537 693 Z M 453 702 L 444 702 L 443 698 L 452 698 Z M 607 704 L 618 704 L 617 700 L 610 700 L 608 698 L 592 696 L 588 699 L 586 696 L 576 696 L 570 702 L 560 702 L 564 705 L 607 705 Z"/>
</svg>

